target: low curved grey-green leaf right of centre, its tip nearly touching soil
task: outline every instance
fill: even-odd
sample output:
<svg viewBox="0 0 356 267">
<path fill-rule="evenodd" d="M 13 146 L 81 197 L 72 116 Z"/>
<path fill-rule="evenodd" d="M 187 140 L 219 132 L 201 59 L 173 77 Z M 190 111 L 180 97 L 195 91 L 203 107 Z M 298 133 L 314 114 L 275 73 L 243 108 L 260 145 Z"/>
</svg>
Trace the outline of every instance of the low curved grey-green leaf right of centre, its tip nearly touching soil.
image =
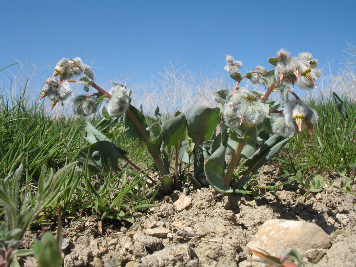
<svg viewBox="0 0 356 267">
<path fill-rule="evenodd" d="M 232 193 L 233 190 L 230 184 L 226 184 L 224 170 L 225 163 L 225 147 L 219 147 L 208 159 L 204 166 L 206 180 L 211 187 L 220 193 Z"/>
</svg>

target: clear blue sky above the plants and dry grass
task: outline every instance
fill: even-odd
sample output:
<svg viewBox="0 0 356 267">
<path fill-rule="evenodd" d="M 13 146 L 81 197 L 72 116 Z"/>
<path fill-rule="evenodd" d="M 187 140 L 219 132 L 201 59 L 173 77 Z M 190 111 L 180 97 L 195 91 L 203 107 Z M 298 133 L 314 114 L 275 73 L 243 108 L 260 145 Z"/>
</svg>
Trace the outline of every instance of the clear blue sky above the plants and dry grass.
<svg viewBox="0 0 356 267">
<path fill-rule="evenodd" d="M 106 82 L 151 79 L 169 60 L 211 77 L 225 54 L 246 71 L 272 69 L 267 58 L 280 48 L 338 69 L 345 41 L 356 45 L 356 1 L 2 0 L 0 22 L 0 69 L 37 64 L 39 89 L 62 57 L 82 57 Z"/>
</svg>

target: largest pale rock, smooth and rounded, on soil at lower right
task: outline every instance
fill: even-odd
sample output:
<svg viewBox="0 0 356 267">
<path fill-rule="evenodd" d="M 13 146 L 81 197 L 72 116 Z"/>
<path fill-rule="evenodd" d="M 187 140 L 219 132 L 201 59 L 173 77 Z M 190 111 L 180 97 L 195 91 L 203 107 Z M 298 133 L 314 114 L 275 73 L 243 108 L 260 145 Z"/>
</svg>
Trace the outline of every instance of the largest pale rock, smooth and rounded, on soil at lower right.
<svg viewBox="0 0 356 267">
<path fill-rule="evenodd" d="M 318 225 L 306 221 L 268 219 L 255 238 L 246 246 L 262 248 L 271 255 L 284 255 L 295 248 L 299 253 L 311 249 L 329 248 L 333 239 Z M 253 256 L 256 257 L 256 256 Z"/>
</svg>

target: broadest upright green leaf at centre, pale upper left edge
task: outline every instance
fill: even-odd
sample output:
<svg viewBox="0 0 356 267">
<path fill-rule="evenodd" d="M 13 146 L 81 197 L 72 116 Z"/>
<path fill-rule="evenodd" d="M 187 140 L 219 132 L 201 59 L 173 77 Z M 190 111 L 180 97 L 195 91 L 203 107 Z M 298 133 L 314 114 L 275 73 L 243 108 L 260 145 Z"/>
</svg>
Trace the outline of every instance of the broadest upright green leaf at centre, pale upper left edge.
<svg viewBox="0 0 356 267">
<path fill-rule="evenodd" d="M 219 122 L 219 108 L 211 109 L 200 105 L 190 105 L 188 108 L 188 134 L 195 145 L 209 140 Z"/>
</svg>

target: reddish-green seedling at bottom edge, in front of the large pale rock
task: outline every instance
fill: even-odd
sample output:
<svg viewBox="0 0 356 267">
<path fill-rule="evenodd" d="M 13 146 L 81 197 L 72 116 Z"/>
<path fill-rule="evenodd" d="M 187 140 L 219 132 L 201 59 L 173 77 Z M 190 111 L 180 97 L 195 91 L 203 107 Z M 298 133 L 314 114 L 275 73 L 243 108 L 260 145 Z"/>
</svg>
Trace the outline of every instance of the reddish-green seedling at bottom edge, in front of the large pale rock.
<svg viewBox="0 0 356 267">
<path fill-rule="evenodd" d="M 260 259 L 250 259 L 247 261 L 256 261 L 265 263 L 267 266 L 274 266 L 274 267 L 300 267 L 302 266 L 302 258 L 300 257 L 297 250 L 292 249 L 288 251 L 284 256 L 276 257 L 269 254 L 267 251 L 259 248 L 259 250 L 252 250 L 252 253 L 256 256 L 260 257 Z M 298 264 L 290 262 L 290 260 L 298 260 Z"/>
</svg>

